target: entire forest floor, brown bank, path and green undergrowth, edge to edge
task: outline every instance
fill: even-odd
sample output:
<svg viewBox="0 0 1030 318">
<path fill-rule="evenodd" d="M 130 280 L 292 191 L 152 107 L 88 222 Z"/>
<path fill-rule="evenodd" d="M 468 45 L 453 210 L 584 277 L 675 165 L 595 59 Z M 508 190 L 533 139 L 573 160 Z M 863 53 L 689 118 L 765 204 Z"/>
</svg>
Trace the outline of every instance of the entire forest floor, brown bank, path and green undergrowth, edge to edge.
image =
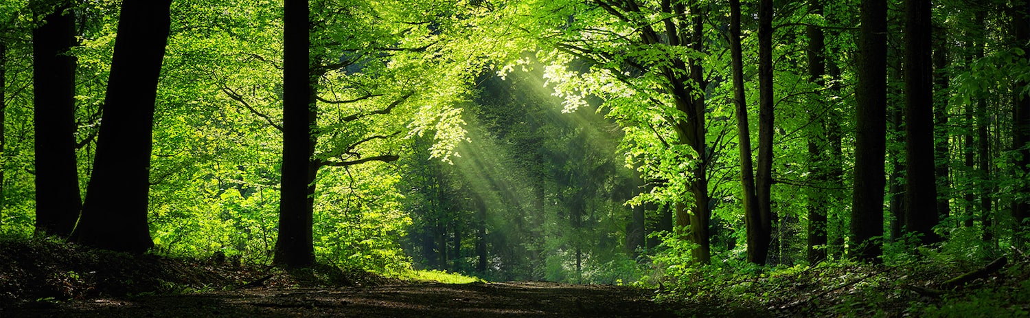
<svg viewBox="0 0 1030 318">
<path fill-rule="evenodd" d="M 1030 258 L 716 271 L 653 289 L 442 284 L 0 239 L 0 317 L 1030 317 Z M 761 271 L 759 271 L 761 272 Z M 960 285 L 955 278 L 967 277 Z M 949 285 L 952 284 L 952 285 Z"/>
</svg>

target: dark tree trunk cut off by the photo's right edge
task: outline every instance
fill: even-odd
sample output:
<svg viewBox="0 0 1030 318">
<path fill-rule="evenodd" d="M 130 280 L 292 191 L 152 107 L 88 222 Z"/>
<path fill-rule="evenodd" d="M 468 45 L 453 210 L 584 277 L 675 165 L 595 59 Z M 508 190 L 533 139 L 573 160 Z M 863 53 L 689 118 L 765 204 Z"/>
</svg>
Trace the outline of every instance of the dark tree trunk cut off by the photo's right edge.
<svg viewBox="0 0 1030 318">
<path fill-rule="evenodd" d="M 1030 51 L 1030 46 L 1027 45 L 1027 41 L 1030 41 L 1030 1 L 1022 1 L 1022 4 L 1012 8 L 1012 27 L 1016 29 L 1016 43 L 1024 50 L 1024 52 Z M 1022 63 L 1027 63 L 1030 59 L 1027 55 L 1022 58 Z M 1019 171 L 1021 176 L 1026 176 L 1030 173 L 1027 165 L 1030 165 L 1030 148 L 1027 148 L 1027 143 L 1030 142 L 1030 96 L 1023 94 L 1027 87 L 1026 80 L 1017 80 L 1012 85 L 1012 149 L 1018 149 L 1019 160 L 1016 162 L 1016 169 Z M 1025 182 L 1019 185 L 1017 191 L 1019 192 L 1017 198 L 1012 202 L 1012 218 L 1016 222 L 1016 231 L 1023 232 L 1024 226 L 1027 225 L 1026 218 L 1030 217 L 1030 202 L 1027 201 L 1027 196 L 1030 196 L 1030 186 Z M 1016 235 L 1014 237 L 1019 237 Z M 1022 247 L 1025 242 L 1023 240 L 1017 240 L 1018 246 Z"/>
</svg>

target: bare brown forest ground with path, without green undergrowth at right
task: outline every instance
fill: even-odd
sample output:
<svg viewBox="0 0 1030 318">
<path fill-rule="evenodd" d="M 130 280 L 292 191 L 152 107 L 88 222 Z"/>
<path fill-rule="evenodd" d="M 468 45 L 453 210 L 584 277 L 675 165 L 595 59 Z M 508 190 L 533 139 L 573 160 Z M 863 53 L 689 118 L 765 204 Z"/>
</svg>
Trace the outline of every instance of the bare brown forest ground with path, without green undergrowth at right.
<svg viewBox="0 0 1030 318">
<path fill-rule="evenodd" d="M 0 241 L 0 317 L 667 317 L 653 290 L 442 284 Z"/>
</svg>

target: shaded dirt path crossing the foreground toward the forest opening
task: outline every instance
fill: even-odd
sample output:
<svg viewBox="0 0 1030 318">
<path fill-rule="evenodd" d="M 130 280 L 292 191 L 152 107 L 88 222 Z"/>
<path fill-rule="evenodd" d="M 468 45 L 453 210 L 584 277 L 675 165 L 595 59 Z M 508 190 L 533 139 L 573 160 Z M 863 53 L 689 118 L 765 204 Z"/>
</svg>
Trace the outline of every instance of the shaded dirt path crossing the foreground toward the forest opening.
<svg viewBox="0 0 1030 318">
<path fill-rule="evenodd" d="M 253 288 L 187 295 L 35 303 L 0 317 L 670 317 L 651 292 L 547 282 Z M 0 307 L 2 308 L 2 307 Z"/>
</svg>

